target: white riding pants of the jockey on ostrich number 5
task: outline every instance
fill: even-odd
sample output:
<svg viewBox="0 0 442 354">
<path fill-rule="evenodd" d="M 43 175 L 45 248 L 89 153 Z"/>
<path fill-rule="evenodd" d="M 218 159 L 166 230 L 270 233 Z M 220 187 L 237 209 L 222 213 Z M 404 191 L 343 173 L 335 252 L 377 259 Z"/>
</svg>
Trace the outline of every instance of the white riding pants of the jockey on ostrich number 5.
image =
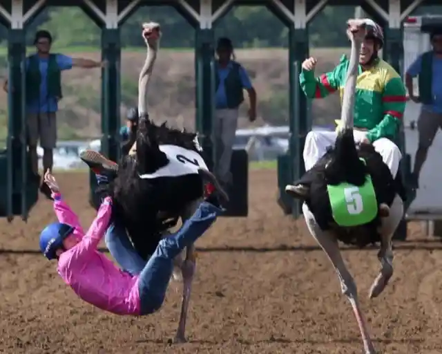
<svg viewBox="0 0 442 354">
<path fill-rule="evenodd" d="M 354 141 L 361 142 L 365 138 L 366 131 L 354 130 Z M 336 131 L 310 131 L 305 138 L 305 145 L 303 151 L 305 170 L 308 171 L 314 167 L 316 162 L 322 158 L 327 152 L 327 147 L 334 145 L 338 133 Z M 393 178 L 396 178 L 398 173 L 399 162 L 402 158 L 402 153 L 399 148 L 387 138 L 381 138 L 373 142 L 373 147 L 381 154 L 385 165 L 388 166 L 392 172 Z"/>
</svg>

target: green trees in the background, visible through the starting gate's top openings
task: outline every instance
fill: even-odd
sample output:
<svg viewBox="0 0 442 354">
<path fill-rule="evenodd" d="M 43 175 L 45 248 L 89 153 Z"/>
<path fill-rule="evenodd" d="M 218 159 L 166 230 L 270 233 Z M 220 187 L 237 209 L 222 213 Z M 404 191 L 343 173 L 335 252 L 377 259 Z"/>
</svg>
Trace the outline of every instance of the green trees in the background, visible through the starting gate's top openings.
<svg viewBox="0 0 442 354">
<path fill-rule="evenodd" d="M 343 36 L 345 21 L 354 16 L 354 6 L 326 6 L 309 24 L 309 39 L 314 47 L 347 46 Z M 416 11 L 442 13 L 442 6 L 424 6 Z M 121 28 L 122 46 L 143 46 L 140 37 L 140 24 L 153 19 L 163 26 L 164 48 L 193 48 L 195 36 L 193 28 L 171 6 L 142 6 Z M 69 24 L 69 26 L 66 26 Z M 259 26 L 257 26 L 259 24 Z M 27 43 L 32 45 L 37 28 L 52 32 L 59 47 L 99 46 L 100 30 L 78 7 L 45 8 L 28 26 Z M 215 35 L 231 37 L 237 48 L 287 47 L 288 30 L 282 22 L 265 6 L 236 6 L 222 18 Z M 6 28 L 0 26 L 0 38 L 7 38 Z"/>
</svg>

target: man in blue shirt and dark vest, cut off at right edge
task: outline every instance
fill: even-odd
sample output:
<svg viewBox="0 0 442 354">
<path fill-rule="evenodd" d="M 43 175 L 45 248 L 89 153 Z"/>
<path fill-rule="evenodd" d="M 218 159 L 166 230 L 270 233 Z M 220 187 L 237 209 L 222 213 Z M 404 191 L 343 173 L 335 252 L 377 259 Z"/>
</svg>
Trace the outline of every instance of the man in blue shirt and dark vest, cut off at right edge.
<svg viewBox="0 0 442 354">
<path fill-rule="evenodd" d="M 439 128 L 442 128 L 442 28 L 430 33 L 432 50 L 420 55 L 405 75 L 410 100 L 422 104 L 417 121 L 419 147 L 414 158 L 412 186 L 419 188 L 419 174 Z M 413 91 L 413 77 L 419 76 L 419 96 Z"/>
</svg>

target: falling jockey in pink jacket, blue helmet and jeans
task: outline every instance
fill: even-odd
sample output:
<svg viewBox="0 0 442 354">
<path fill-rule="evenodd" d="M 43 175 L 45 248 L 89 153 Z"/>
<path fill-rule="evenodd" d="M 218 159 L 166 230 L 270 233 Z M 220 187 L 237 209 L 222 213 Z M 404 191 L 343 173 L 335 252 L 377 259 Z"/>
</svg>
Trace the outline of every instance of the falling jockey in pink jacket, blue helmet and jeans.
<svg viewBox="0 0 442 354">
<path fill-rule="evenodd" d="M 104 198 L 85 233 L 49 171 L 44 181 L 52 191 L 59 222 L 41 232 L 41 252 L 49 260 L 57 259 L 58 273 L 81 299 L 117 315 L 148 315 L 158 310 L 171 279 L 173 259 L 202 236 L 220 212 L 218 207 L 202 203 L 180 230 L 160 241 L 140 274 L 133 276 L 97 250 L 111 219 L 112 198 Z"/>
</svg>

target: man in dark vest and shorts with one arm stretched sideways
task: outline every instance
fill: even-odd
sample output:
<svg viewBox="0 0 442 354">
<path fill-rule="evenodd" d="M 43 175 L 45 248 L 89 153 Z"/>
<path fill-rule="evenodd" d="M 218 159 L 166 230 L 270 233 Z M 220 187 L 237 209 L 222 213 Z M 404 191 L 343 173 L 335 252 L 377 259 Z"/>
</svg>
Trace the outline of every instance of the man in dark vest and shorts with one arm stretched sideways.
<svg viewBox="0 0 442 354">
<path fill-rule="evenodd" d="M 102 62 L 50 53 L 52 36 L 39 30 L 34 40 L 37 53 L 26 58 L 26 119 L 28 122 L 28 148 L 32 172 L 39 180 L 37 143 L 44 149 L 43 168 L 52 171 L 53 149 L 57 143 L 58 102 L 61 94 L 61 71 L 73 67 L 99 68 Z M 8 80 L 3 85 L 8 91 Z M 13 88 L 12 88 L 13 89 Z M 40 191 L 50 198 L 50 189 L 41 183 Z"/>
</svg>

